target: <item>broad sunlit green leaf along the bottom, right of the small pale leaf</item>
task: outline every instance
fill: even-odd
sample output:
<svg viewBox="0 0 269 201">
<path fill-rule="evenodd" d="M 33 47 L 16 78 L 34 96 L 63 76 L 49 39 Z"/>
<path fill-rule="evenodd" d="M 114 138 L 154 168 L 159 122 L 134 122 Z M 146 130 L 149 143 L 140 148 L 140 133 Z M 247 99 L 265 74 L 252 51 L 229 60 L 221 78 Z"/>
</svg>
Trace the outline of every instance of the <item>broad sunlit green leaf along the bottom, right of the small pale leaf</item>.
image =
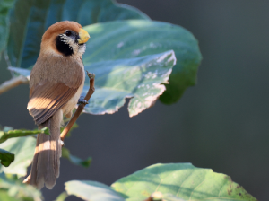
<svg viewBox="0 0 269 201">
<path fill-rule="evenodd" d="M 229 176 L 190 163 L 155 164 L 134 172 L 111 185 L 127 201 L 144 200 L 153 192 L 185 200 L 256 201 Z"/>
</svg>

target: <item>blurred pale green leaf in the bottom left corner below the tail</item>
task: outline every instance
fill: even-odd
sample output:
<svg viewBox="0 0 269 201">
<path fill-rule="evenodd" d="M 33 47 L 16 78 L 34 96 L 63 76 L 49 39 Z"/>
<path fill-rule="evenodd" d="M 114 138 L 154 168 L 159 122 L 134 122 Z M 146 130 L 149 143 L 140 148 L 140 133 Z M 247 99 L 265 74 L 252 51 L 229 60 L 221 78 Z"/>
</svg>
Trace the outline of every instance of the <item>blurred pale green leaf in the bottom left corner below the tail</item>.
<svg viewBox="0 0 269 201">
<path fill-rule="evenodd" d="M 34 200 L 41 201 L 42 195 L 41 192 L 30 186 L 22 183 L 20 179 L 8 179 L 4 175 L 1 175 L 0 178 L 0 199 L 1 200 Z M 5 199 L 2 197 L 8 197 Z M 16 199 L 14 199 L 16 198 Z"/>
</svg>

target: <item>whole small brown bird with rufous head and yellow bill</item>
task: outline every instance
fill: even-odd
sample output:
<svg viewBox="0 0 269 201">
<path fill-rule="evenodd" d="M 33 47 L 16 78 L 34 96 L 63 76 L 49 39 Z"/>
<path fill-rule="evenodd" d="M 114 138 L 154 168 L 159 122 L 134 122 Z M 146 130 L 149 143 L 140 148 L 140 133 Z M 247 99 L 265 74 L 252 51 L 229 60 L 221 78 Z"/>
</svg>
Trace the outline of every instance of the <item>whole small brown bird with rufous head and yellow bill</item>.
<svg viewBox="0 0 269 201">
<path fill-rule="evenodd" d="M 35 123 L 48 127 L 39 134 L 30 175 L 24 180 L 37 188 L 51 189 L 59 177 L 63 115 L 71 118 L 84 84 L 82 55 L 90 35 L 77 22 L 57 22 L 44 33 L 39 58 L 30 73 L 27 109 Z"/>
</svg>

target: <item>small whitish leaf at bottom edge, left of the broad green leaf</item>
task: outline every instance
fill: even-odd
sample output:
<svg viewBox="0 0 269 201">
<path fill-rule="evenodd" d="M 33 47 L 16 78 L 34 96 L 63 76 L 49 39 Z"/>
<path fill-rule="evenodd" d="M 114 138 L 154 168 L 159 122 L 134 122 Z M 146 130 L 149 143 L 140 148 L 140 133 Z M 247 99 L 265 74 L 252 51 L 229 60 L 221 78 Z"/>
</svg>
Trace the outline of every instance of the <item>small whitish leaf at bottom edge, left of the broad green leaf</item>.
<svg viewBox="0 0 269 201">
<path fill-rule="evenodd" d="M 117 192 L 105 184 L 88 180 L 72 180 L 65 182 L 68 195 L 91 201 L 125 201 Z"/>
</svg>

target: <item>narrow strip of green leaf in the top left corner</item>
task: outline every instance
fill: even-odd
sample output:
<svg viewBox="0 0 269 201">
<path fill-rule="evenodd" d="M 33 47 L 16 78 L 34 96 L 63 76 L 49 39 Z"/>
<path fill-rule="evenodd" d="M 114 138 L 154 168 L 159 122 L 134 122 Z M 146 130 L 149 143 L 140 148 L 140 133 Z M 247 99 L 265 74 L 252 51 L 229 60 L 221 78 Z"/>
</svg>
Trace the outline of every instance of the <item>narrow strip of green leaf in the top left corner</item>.
<svg viewBox="0 0 269 201">
<path fill-rule="evenodd" d="M 9 11 L 13 7 L 15 0 L 1 0 L 0 2 L 0 58 L 6 46 L 9 34 Z"/>
</svg>

